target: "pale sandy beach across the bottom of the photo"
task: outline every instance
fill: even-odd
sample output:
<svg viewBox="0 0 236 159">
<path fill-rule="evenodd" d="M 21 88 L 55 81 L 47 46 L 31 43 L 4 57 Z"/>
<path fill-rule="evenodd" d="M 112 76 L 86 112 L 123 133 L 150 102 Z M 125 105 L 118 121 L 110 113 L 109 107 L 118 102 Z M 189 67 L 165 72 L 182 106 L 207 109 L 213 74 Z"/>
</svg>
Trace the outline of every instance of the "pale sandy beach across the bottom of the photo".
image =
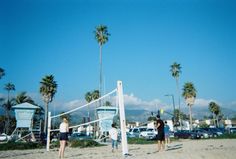
<svg viewBox="0 0 236 159">
<path fill-rule="evenodd" d="M 121 154 L 121 147 L 112 153 L 111 146 L 94 148 L 66 148 L 69 159 L 234 159 L 236 139 L 180 140 L 172 142 L 169 148 L 156 152 L 157 145 L 128 145 L 129 156 Z M 0 158 L 6 159 L 53 159 L 58 158 L 58 149 L 0 151 Z"/>
</svg>

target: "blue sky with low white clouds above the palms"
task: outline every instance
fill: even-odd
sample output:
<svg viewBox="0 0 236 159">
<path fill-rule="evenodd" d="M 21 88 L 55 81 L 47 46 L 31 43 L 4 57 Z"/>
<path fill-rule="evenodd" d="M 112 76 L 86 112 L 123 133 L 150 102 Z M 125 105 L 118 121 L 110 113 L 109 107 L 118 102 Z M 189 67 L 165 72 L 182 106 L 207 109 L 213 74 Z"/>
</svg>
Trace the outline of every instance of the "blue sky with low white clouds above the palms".
<svg viewBox="0 0 236 159">
<path fill-rule="evenodd" d="M 170 106 L 164 95 L 176 97 L 170 65 L 177 62 L 180 87 L 193 82 L 198 91 L 196 106 L 214 100 L 235 107 L 235 7 L 233 0 L 1 0 L 0 67 L 6 76 L 0 86 L 12 82 L 15 94 L 27 91 L 40 103 L 39 82 L 53 74 L 54 106 L 83 100 L 98 89 L 93 31 L 104 24 L 111 34 L 103 47 L 107 92 L 122 80 L 127 104 Z"/>
</svg>

